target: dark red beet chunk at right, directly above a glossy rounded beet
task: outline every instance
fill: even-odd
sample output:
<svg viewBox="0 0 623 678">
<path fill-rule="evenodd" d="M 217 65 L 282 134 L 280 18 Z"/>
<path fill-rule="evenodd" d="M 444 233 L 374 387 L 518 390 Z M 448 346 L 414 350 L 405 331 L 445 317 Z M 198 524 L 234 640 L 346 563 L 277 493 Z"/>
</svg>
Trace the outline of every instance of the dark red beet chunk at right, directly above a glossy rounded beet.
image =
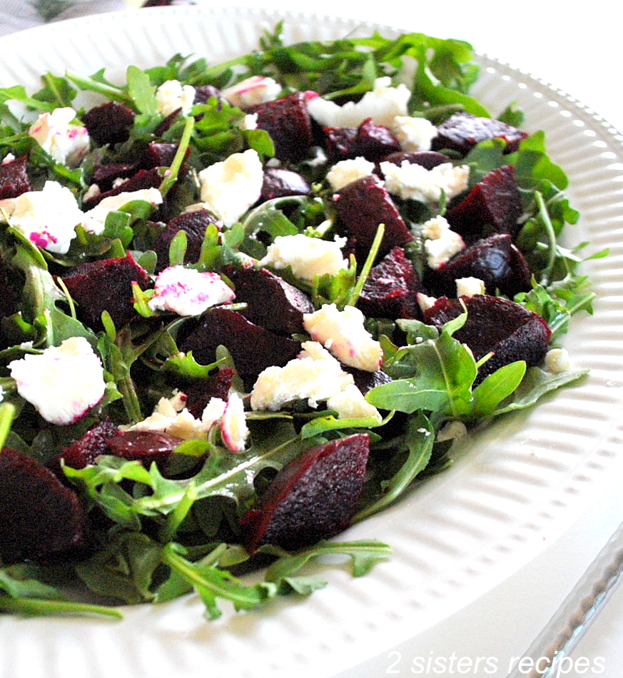
<svg viewBox="0 0 623 678">
<path fill-rule="evenodd" d="M 456 207 L 446 214 L 452 231 L 466 242 L 489 233 L 517 235 L 517 222 L 522 215 L 522 198 L 515 168 L 504 165 L 490 171 L 467 193 Z"/>
</svg>

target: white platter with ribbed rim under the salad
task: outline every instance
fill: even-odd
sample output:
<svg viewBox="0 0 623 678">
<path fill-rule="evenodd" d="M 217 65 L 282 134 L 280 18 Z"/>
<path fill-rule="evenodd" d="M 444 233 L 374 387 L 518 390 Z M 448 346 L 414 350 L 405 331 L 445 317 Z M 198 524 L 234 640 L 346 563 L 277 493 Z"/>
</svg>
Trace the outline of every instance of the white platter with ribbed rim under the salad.
<svg viewBox="0 0 623 678">
<path fill-rule="evenodd" d="M 285 19 L 288 42 L 332 39 L 357 29 L 397 29 L 313 14 L 171 7 L 51 24 L 0 39 L 0 86 L 39 87 L 39 75 L 162 63 L 176 53 L 217 63 L 255 48 Z M 460 37 L 460 36 L 458 36 Z M 456 612 L 529 562 L 578 517 L 609 470 L 623 462 L 623 149 L 607 121 L 531 76 L 485 56 L 473 89 L 492 113 L 517 101 L 528 131 L 545 129 L 554 161 L 569 175 L 582 219 L 569 242 L 590 241 L 597 300 L 565 340 L 589 378 L 529 413 L 498 422 L 462 449 L 455 465 L 348 538 L 378 538 L 394 556 L 353 580 L 325 570 L 310 599 L 272 604 L 206 622 L 186 597 L 128 608 L 123 622 L 0 618 L 6 678 L 323 678 L 383 652 Z"/>
</svg>

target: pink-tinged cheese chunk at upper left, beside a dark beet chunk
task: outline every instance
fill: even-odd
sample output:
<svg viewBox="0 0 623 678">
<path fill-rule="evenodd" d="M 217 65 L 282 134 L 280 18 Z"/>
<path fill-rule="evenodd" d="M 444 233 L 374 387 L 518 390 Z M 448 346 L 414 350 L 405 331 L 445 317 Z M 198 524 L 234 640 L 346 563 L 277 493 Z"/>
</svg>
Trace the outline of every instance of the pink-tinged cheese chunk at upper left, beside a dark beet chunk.
<svg viewBox="0 0 623 678">
<path fill-rule="evenodd" d="M 71 106 L 41 113 L 29 128 L 29 136 L 56 162 L 77 165 L 91 147 L 86 127 L 71 124 L 76 111 Z"/>
</svg>

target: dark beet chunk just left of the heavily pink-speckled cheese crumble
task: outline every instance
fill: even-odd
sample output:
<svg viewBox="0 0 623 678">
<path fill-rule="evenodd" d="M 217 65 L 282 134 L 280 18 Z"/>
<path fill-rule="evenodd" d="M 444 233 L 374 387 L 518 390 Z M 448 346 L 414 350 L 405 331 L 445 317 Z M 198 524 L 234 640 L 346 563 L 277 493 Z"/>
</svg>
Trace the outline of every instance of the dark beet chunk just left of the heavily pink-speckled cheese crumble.
<svg viewBox="0 0 623 678">
<path fill-rule="evenodd" d="M 152 284 L 129 252 L 125 257 L 80 264 L 64 275 L 63 282 L 78 304 L 78 318 L 97 329 L 102 327 L 103 310 L 110 313 L 117 328 L 132 320 L 136 315 L 132 283 L 143 290 Z"/>
</svg>

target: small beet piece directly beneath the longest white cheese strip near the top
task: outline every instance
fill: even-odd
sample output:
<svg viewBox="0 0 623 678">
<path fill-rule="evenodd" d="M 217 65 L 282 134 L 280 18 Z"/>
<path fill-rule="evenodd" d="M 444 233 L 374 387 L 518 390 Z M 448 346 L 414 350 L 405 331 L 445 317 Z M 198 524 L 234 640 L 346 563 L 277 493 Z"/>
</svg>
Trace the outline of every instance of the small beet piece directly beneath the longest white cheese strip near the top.
<svg viewBox="0 0 623 678">
<path fill-rule="evenodd" d="M 326 127 L 325 146 L 333 162 L 357 157 L 376 162 L 389 153 L 400 151 L 400 142 L 389 128 L 375 124 L 372 118 L 364 120 L 357 128 Z"/>
</svg>

